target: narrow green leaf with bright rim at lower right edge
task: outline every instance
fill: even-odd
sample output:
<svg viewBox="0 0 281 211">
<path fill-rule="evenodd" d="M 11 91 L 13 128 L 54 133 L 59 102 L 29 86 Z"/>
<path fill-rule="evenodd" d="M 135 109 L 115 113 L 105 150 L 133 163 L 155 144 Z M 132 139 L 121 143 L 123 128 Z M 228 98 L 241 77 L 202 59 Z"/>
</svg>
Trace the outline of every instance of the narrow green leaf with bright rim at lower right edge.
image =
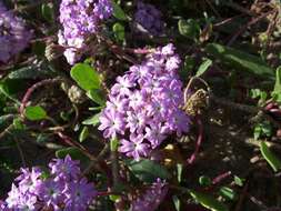
<svg viewBox="0 0 281 211">
<path fill-rule="evenodd" d="M 260 151 L 274 172 L 281 169 L 281 160 L 269 149 L 264 141 L 260 143 Z"/>
</svg>

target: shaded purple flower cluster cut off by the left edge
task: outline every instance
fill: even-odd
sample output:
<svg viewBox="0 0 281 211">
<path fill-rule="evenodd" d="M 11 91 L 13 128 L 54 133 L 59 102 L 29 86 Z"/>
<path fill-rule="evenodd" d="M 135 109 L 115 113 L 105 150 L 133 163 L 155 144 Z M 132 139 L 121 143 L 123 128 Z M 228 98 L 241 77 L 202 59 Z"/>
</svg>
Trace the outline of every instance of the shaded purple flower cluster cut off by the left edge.
<svg viewBox="0 0 281 211">
<path fill-rule="evenodd" d="M 31 38 L 32 32 L 26 29 L 24 21 L 0 2 L 0 63 L 27 48 Z"/>
</svg>

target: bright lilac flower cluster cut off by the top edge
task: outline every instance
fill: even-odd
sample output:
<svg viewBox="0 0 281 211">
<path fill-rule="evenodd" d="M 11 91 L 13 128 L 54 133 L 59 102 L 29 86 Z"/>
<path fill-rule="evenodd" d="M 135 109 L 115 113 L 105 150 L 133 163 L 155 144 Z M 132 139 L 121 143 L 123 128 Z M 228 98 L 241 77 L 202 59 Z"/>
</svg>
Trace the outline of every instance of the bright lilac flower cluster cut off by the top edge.
<svg viewBox="0 0 281 211">
<path fill-rule="evenodd" d="M 60 4 L 59 44 L 66 47 L 64 56 L 70 64 L 80 59 L 87 39 L 96 33 L 100 21 L 112 14 L 110 0 L 62 0 Z"/>
</svg>

